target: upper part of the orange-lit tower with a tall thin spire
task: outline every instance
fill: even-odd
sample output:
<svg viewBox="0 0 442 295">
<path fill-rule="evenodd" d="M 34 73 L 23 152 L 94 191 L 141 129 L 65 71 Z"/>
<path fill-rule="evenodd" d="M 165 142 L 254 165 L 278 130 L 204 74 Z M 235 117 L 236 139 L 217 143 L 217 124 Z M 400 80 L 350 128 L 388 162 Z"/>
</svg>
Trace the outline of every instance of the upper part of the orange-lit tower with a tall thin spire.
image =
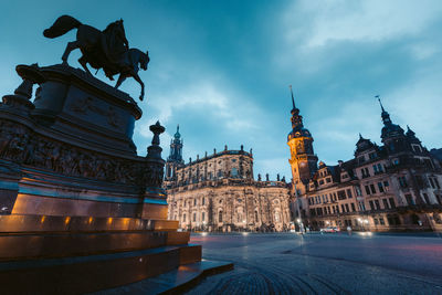
<svg viewBox="0 0 442 295">
<path fill-rule="evenodd" d="M 304 128 L 303 116 L 295 106 L 292 86 L 292 131 L 287 136 L 287 145 L 291 149 L 291 159 L 293 181 L 295 185 L 307 185 L 317 170 L 318 158 L 313 151 L 313 137 L 308 129 Z M 301 186 L 298 186 L 299 188 Z"/>
</svg>

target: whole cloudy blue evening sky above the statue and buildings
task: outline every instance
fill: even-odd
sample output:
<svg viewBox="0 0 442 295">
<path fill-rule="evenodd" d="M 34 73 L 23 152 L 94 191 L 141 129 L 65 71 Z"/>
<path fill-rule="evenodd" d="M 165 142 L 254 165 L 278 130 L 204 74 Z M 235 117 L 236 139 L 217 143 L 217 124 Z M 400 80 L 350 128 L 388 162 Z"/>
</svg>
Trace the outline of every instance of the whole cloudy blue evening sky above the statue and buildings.
<svg viewBox="0 0 442 295">
<path fill-rule="evenodd" d="M 138 154 L 148 126 L 166 126 L 164 157 L 177 124 L 183 156 L 227 144 L 253 148 L 255 177 L 291 178 L 288 85 L 315 152 L 326 164 L 352 157 L 358 133 L 380 143 L 379 94 L 394 123 L 429 148 L 441 147 L 441 1 L 3 1 L 0 93 L 19 85 L 17 64 L 55 64 L 72 31 L 42 32 L 61 14 L 104 29 L 123 18 L 130 46 L 149 50 L 136 124 Z M 80 67 L 73 52 L 70 64 Z M 102 74 L 98 78 L 107 81 Z M 139 86 L 120 87 L 138 97 Z"/>
</svg>

